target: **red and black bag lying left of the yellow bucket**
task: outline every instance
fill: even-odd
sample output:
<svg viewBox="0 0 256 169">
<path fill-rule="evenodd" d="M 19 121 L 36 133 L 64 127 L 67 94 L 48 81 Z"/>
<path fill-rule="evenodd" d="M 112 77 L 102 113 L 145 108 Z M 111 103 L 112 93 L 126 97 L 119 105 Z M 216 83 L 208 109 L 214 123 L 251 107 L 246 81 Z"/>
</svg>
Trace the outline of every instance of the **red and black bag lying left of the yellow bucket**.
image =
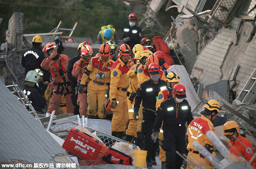
<svg viewBox="0 0 256 169">
<path fill-rule="evenodd" d="M 133 159 L 116 149 L 109 148 L 107 153 L 102 157 L 103 160 L 110 164 L 122 164 L 132 166 Z"/>
</svg>

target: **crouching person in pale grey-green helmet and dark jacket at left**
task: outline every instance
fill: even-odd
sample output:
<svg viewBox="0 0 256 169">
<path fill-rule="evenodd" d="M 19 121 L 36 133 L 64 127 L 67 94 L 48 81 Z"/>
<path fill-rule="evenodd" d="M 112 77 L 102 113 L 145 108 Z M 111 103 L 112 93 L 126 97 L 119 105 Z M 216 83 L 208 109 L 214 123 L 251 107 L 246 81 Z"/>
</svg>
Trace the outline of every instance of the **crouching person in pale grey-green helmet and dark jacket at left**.
<svg viewBox="0 0 256 169">
<path fill-rule="evenodd" d="M 29 101 L 31 101 L 31 104 L 34 107 L 35 111 L 42 113 L 42 109 L 45 105 L 45 100 L 40 90 L 38 89 L 38 86 L 36 85 L 39 79 L 40 75 L 38 74 L 38 72 L 34 70 L 27 72 L 23 92 L 28 97 Z"/>
</svg>

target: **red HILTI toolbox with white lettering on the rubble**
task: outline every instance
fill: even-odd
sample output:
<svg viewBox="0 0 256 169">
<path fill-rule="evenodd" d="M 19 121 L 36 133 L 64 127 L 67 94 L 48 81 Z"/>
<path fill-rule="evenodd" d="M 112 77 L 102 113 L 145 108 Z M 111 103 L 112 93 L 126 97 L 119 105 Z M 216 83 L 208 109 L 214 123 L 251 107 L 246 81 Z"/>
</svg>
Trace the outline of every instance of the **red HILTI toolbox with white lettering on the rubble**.
<svg viewBox="0 0 256 169">
<path fill-rule="evenodd" d="M 103 145 L 96 138 L 72 127 L 62 148 L 84 160 L 95 160 Z"/>
</svg>

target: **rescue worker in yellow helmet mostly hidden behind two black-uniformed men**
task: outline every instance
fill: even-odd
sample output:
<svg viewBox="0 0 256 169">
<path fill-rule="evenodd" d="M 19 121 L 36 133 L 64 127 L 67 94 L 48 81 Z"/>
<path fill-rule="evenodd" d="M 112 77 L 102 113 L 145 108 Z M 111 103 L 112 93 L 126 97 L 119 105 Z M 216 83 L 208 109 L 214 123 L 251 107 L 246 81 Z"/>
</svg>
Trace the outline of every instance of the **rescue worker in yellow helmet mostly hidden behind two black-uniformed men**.
<svg viewBox="0 0 256 169">
<path fill-rule="evenodd" d="M 166 89 L 160 90 L 160 92 L 158 93 L 156 109 L 158 109 L 158 107 L 164 100 L 169 99 L 170 97 L 173 97 L 172 89 L 176 84 L 179 83 L 179 81 L 180 81 L 180 77 L 175 72 L 170 72 L 169 74 L 167 74 L 166 83 L 168 86 Z M 162 126 L 160 128 L 158 138 L 162 141 L 161 146 L 160 146 L 159 158 L 162 163 L 161 168 L 164 169 L 164 168 L 166 168 L 166 152 L 163 151 L 163 129 L 162 129 Z"/>
</svg>

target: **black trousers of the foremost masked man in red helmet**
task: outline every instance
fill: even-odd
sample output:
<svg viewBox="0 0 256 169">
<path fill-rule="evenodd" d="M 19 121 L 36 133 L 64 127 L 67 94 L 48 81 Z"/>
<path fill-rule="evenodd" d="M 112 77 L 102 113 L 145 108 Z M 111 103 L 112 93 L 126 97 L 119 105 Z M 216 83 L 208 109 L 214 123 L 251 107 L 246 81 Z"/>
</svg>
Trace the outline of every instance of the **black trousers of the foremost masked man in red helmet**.
<svg viewBox="0 0 256 169">
<path fill-rule="evenodd" d="M 166 166 L 168 169 L 180 169 L 183 159 L 176 153 L 185 153 L 186 126 L 172 126 L 163 129 L 163 150 L 166 151 Z"/>
</svg>

